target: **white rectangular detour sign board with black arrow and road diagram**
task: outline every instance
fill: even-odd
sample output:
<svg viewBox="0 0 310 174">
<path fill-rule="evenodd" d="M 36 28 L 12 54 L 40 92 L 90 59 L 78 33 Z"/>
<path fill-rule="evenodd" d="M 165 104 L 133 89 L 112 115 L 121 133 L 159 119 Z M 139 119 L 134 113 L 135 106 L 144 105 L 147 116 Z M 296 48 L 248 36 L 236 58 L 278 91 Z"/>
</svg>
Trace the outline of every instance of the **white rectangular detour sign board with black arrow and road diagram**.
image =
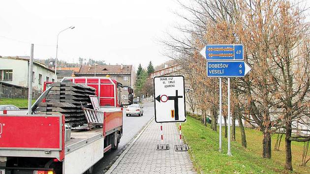
<svg viewBox="0 0 310 174">
<path fill-rule="evenodd" d="M 184 76 L 154 78 L 155 121 L 186 122 Z"/>
</svg>

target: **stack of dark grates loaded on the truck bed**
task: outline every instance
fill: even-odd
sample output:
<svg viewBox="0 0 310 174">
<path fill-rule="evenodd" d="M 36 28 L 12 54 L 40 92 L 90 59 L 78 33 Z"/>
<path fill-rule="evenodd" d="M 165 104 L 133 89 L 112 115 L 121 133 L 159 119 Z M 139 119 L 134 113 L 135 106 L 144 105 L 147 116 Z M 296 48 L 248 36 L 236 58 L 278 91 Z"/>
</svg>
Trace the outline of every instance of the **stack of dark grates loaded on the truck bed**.
<svg viewBox="0 0 310 174">
<path fill-rule="evenodd" d="M 87 123 L 81 104 L 84 108 L 91 108 L 89 95 L 95 95 L 95 89 L 86 85 L 72 82 L 56 82 L 50 85 L 51 91 L 46 97 L 45 103 L 41 102 L 35 110 L 35 114 L 65 116 L 65 123 L 72 127 Z"/>
</svg>

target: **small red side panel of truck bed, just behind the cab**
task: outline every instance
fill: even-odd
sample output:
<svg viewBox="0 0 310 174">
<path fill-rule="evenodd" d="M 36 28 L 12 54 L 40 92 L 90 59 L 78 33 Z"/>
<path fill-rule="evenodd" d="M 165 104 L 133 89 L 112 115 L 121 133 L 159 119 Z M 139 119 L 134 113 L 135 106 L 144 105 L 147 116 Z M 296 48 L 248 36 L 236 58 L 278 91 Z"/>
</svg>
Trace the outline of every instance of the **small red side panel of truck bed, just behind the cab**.
<svg viewBox="0 0 310 174">
<path fill-rule="evenodd" d="M 108 132 L 116 127 L 122 126 L 123 124 L 123 111 L 105 112 L 105 124 L 104 131 Z"/>
</svg>

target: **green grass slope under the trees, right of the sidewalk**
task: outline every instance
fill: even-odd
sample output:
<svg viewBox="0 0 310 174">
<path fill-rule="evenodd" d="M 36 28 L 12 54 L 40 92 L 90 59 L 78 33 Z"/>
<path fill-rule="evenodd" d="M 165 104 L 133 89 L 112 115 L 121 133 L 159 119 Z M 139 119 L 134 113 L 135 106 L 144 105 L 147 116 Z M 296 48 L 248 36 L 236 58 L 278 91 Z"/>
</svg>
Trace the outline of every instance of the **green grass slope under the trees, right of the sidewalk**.
<svg viewBox="0 0 310 174">
<path fill-rule="evenodd" d="M 223 152 L 218 152 L 218 132 L 204 126 L 197 119 L 190 116 L 182 124 L 184 138 L 189 145 L 189 153 L 198 173 L 205 174 L 279 174 L 288 173 L 284 170 L 285 151 L 283 139 L 280 150 L 272 150 L 272 159 L 263 159 L 262 133 L 257 130 L 246 129 L 248 148 L 241 146 L 239 128 L 236 128 L 236 142 L 231 142 L 232 157 L 228 157 L 227 139 L 222 136 Z M 224 133 L 224 128 L 222 129 Z M 273 137 L 273 143 L 276 136 Z M 274 145 L 274 144 L 273 144 Z M 302 143 L 292 143 L 294 173 L 309 173 L 310 167 L 300 167 Z"/>
</svg>

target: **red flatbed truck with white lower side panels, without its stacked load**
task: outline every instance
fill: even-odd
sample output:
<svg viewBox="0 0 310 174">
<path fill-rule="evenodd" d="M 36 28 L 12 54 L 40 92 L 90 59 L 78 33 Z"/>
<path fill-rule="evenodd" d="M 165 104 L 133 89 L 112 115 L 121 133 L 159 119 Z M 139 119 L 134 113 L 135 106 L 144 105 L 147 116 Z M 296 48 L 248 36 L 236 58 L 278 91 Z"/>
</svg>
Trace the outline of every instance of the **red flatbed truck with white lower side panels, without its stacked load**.
<svg viewBox="0 0 310 174">
<path fill-rule="evenodd" d="M 63 115 L 0 115 L 0 174 L 91 174 L 104 152 L 118 147 L 123 134 L 122 84 L 104 77 L 63 80 L 96 89 L 102 126 L 72 131 L 66 140 Z M 132 89 L 128 91 L 130 100 Z"/>
</svg>

